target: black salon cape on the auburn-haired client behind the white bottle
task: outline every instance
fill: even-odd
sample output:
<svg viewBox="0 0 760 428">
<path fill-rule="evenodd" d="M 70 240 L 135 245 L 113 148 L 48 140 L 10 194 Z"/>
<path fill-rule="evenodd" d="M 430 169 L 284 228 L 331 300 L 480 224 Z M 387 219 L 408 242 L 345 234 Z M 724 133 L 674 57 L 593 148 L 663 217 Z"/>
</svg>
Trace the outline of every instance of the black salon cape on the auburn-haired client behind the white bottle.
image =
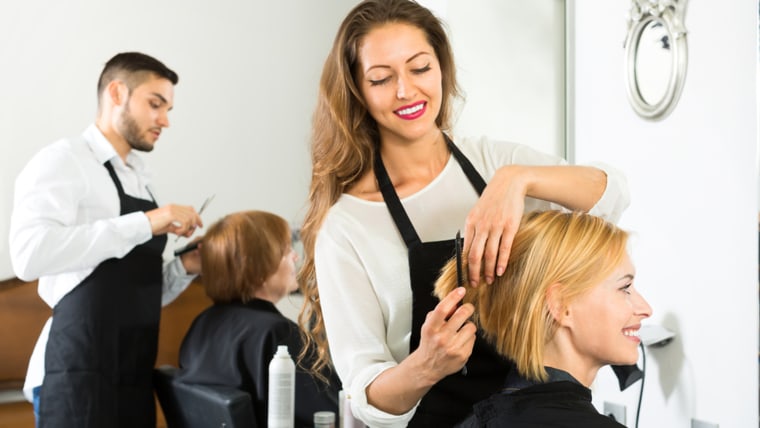
<svg viewBox="0 0 760 428">
<path fill-rule="evenodd" d="M 269 362 L 277 345 L 287 345 L 296 363 L 295 427 L 312 427 L 318 411 L 332 411 L 337 417 L 337 378 L 330 376 L 328 387 L 298 367 L 303 347 L 298 326 L 265 300 L 215 304 L 198 315 L 180 347 L 179 380 L 248 392 L 258 426 L 265 427 Z"/>
</svg>

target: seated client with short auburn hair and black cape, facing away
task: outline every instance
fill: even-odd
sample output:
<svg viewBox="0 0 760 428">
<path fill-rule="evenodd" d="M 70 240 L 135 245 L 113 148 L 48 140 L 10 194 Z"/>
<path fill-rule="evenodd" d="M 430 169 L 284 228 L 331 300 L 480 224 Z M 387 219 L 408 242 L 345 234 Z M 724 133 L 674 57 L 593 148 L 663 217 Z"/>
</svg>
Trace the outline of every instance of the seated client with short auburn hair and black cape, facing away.
<svg viewBox="0 0 760 428">
<path fill-rule="evenodd" d="M 294 360 L 303 349 L 298 326 L 275 307 L 298 288 L 290 227 L 264 211 L 229 214 L 209 227 L 200 253 L 203 286 L 214 304 L 182 342 L 179 379 L 248 392 L 258 426 L 265 427 L 269 362 L 278 345 L 287 345 Z M 327 385 L 296 365 L 295 427 L 311 427 L 314 412 L 337 413 L 338 385 L 334 376 Z"/>
</svg>

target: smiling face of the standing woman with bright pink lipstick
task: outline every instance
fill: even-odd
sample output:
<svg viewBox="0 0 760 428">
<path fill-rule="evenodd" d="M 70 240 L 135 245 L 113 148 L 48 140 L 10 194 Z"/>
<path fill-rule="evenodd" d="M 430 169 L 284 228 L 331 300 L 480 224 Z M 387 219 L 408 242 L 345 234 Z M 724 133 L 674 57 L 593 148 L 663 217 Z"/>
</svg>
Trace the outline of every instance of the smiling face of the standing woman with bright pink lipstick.
<svg viewBox="0 0 760 428">
<path fill-rule="evenodd" d="M 441 67 L 425 33 L 392 23 L 371 30 L 359 46 L 358 82 L 383 143 L 440 134 Z"/>
</svg>

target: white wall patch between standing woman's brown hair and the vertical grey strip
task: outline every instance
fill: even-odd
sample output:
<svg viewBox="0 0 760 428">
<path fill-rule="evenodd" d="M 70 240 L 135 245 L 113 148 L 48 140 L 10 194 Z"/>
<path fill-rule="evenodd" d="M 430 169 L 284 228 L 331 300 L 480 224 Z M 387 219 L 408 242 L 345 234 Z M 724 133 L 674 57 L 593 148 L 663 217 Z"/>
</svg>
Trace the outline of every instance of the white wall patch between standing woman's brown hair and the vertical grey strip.
<svg viewBox="0 0 760 428">
<path fill-rule="evenodd" d="M 423 2 L 424 3 L 424 2 Z M 464 102 L 455 131 L 564 156 L 564 1 L 444 1 Z"/>
</svg>

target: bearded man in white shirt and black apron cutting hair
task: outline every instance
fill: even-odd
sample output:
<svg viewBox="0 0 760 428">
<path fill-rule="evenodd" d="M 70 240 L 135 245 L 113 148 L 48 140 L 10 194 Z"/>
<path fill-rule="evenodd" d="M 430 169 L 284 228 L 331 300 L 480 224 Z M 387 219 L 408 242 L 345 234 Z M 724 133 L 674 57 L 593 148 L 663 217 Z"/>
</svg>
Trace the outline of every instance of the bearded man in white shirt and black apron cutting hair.
<svg viewBox="0 0 760 428">
<path fill-rule="evenodd" d="M 155 58 L 117 54 L 98 81 L 95 123 L 17 177 L 13 269 L 39 278 L 53 308 L 24 387 L 40 428 L 155 427 L 161 305 L 200 271 L 197 251 L 164 264 L 166 235 L 190 236 L 202 222 L 193 207 L 158 205 L 135 152 L 153 150 L 169 126 L 177 81 Z"/>
</svg>

